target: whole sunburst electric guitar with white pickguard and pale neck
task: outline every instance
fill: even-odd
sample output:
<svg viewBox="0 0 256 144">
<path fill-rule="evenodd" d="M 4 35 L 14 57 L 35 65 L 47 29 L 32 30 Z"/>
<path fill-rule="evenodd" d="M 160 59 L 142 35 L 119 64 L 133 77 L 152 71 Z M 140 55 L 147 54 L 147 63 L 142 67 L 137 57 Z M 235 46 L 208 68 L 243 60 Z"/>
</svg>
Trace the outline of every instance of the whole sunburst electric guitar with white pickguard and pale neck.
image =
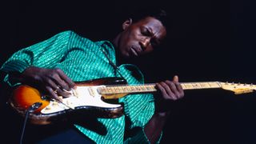
<svg viewBox="0 0 256 144">
<path fill-rule="evenodd" d="M 256 90 L 252 84 L 229 82 L 181 82 L 183 90 L 222 88 L 234 91 L 234 94 L 250 93 Z M 123 106 L 106 102 L 106 99 L 122 98 L 127 94 L 153 93 L 155 84 L 126 85 L 120 78 L 99 78 L 86 82 L 76 82 L 76 89 L 70 91 L 70 97 L 62 102 L 47 98 L 31 86 L 21 85 L 14 89 L 10 106 L 18 114 L 25 116 L 33 124 L 46 125 L 59 119 L 74 118 L 74 114 L 97 118 L 118 118 L 122 116 Z M 60 96 L 61 97 L 61 96 Z"/>
</svg>

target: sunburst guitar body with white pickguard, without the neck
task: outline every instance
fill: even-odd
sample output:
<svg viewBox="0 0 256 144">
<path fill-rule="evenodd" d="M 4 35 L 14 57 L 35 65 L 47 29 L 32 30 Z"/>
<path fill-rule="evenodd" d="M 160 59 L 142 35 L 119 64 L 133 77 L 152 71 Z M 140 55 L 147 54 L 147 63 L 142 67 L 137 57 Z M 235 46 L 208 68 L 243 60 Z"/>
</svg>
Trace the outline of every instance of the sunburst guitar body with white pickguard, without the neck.
<svg viewBox="0 0 256 144">
<path fill-rule="evenodd" d="M 102 94 L 99 88 L 106 85 L 123 84 L 120 78 L 100 78 L 86 82 L 76 82 L 76 89 L 69 97 L 62 98 L 62 102 L 50 99 L 34 87 L 18 86 L 10 98 L 10 106 L 18 114 L 25 116 L 31 106 L 39 104 L 36 110 L 29 114 L 29 121 L 37 125 L 46 125 L 53 122 L 67 121 L 76 117 L 118 118 L 122 116 L 123 106 L 104 102 L 104 99 L 122 97 L 126 94 Z M 62 97 L 62 96 L 60 96 Z"/>
</svg>

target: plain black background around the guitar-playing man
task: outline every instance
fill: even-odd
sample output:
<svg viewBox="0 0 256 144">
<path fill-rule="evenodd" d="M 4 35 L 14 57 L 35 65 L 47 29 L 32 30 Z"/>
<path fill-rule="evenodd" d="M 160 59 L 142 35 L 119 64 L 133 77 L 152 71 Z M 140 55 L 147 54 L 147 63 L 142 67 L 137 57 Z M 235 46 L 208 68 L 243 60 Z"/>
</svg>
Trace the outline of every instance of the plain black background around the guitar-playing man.
<svg viewBox="0 0 256 144">
<path fill-rule="evenodd" d="M 164 7 L 173 24 L 165 47 L 150 55 L 153 57 L 138 62 L 147 82 L 170 79 L 178 74 L 180 82 L 256 84 L 253 0 L 10 0 L 3 3 L 1 9 L 0 64 L 14 51 L 63 30 L 74 30 L 94 41 L 105 40 L 120 30 L 124 14 L 154 5 Z M 254 93 L 185 92 L 186 98 L 174 104 L 162 143 L 256 142 Z"/>
</svg>

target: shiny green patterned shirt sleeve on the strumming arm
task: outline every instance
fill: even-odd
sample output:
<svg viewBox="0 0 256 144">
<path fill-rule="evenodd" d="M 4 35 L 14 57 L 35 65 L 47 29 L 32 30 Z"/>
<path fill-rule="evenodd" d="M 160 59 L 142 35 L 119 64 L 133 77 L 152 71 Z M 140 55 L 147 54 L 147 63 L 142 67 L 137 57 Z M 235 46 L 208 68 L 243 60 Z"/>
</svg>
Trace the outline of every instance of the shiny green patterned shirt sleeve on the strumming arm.
<svg viewBox="0 0 256 144">
<path fill-rule="evenodd" d="M 71 34 L 73 34 L 72 31 L 65 31 L 43 42 L 18 50 L 0 69 L 6 73 L 4 82 L 7 82 L 10 86 L 16 86 L 18 82 L 10 78 L 10 74 L 22 73 L 29 66 L 54 67 L 54 64 L 60 62 L 66 50 L 68 50 Z"/>
</svg>

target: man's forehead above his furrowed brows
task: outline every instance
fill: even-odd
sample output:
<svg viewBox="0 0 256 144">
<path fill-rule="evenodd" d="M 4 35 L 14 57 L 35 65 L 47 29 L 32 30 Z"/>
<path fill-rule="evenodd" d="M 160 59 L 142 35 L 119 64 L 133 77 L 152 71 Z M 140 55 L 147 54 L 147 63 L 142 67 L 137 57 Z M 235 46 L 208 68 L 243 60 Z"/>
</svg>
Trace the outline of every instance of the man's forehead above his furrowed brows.
<svg viewBox="0 0 256 144">
<path fill-rule="evenodd" d="M 158 19 L 154 17 L 146 17 L 137 22 L 138 26 L 146 26 L 149 28 L 153 34 L 157 36 L 164 37 L 166 36 L 166 28 L 162 25 Z"/>
</svg>

